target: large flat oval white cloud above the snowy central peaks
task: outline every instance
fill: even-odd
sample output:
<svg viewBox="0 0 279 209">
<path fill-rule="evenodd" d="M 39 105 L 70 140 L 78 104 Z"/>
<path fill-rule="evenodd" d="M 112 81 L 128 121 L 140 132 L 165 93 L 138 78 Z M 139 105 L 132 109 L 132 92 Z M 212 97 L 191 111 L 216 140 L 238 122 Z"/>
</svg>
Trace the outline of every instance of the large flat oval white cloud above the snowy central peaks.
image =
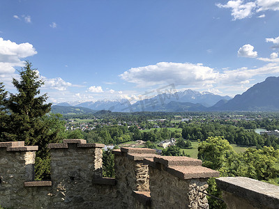
<svg viewBox="0 0 279 209">
<path fill-rule="evenodd" d="M 145 67 L 131 68 L 119 75 L 127 82 L 140 86 L 156 84 L 200 85 L 213 82 L 218 72 L 212 68 L 192 63 L 157 63 Z"/>
</svg>

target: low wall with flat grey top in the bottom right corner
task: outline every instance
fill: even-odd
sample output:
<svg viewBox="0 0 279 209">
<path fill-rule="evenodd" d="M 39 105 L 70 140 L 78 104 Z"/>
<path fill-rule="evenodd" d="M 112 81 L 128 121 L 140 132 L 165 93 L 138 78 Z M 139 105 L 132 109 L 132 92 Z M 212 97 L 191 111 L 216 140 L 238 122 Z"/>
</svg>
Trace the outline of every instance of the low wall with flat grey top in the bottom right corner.
<svg viewBox="0 0 279 209">
<path fill-rule="evenodd" d="M 216 178 L 229 209 L 279 208 L 279 187 L 246 177 Z"/>
</svg>

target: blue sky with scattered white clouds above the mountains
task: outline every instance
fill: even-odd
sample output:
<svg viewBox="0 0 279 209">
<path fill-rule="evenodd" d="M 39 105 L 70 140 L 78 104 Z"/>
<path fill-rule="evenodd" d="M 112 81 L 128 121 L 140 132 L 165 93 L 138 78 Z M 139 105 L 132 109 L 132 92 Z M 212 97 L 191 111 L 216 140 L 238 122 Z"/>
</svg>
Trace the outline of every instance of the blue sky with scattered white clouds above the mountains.
<svg viewBox="0 0 279 209">
<path fill-rule="evenodd" d="M 50 102 L 234 96 L 279 76 L 278 23 L 279 0 L 0 0 L 0 81 L 29 60 Z"/>
</svg>

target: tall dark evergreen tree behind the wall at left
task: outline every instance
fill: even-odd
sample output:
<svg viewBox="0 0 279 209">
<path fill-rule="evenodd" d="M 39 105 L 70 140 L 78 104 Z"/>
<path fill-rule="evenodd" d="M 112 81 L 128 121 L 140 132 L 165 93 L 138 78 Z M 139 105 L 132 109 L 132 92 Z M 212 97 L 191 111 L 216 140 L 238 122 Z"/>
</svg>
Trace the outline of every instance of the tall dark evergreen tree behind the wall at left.
<svg viewBox="0 0 279 209">
<path fill-rule="evenodd" d="M 51 103 L 45 104 L 47 95 L 40 95 L 38 71 L 31 68 L 26 61 L 20 70 L 20 80 L 13 79 L 18 93 L 10 93 L 6 108 L 10 114 L 6 117 L 6 130 L 0 134 L 5 141 L 25 141 L 25 145 L 36 145 L 36 179 L 50 178 L 50 153 L 47 144 L 59 142 L 59 129 L 50 130 L 48 118 L 45 116 L 51 109 Z"/>
</svg>

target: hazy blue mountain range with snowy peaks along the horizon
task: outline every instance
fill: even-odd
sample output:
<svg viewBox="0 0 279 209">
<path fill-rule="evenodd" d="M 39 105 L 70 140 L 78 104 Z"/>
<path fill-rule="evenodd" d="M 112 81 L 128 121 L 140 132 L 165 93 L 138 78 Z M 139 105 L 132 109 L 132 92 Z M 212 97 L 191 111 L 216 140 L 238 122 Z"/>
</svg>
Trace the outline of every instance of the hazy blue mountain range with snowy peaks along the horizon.
<svg viewBox="0 0 279 209">
<path fill-rule="evenodd" d="M 72 106 L 68 102 L 57 104 Z M 56 105 L 53 105 L 54 109 Z M 75 102 L 75 107 L 110 111 L 279 111 L 279 77 L 268 77 L 234 98 L 209 92 L 193 90 L 163 93 L 153 98 L 130 104 L 129 100 L 98 100 L 96 102 Z M 72 109 L 73 110 L 73 109 Z"/>
</svg>

